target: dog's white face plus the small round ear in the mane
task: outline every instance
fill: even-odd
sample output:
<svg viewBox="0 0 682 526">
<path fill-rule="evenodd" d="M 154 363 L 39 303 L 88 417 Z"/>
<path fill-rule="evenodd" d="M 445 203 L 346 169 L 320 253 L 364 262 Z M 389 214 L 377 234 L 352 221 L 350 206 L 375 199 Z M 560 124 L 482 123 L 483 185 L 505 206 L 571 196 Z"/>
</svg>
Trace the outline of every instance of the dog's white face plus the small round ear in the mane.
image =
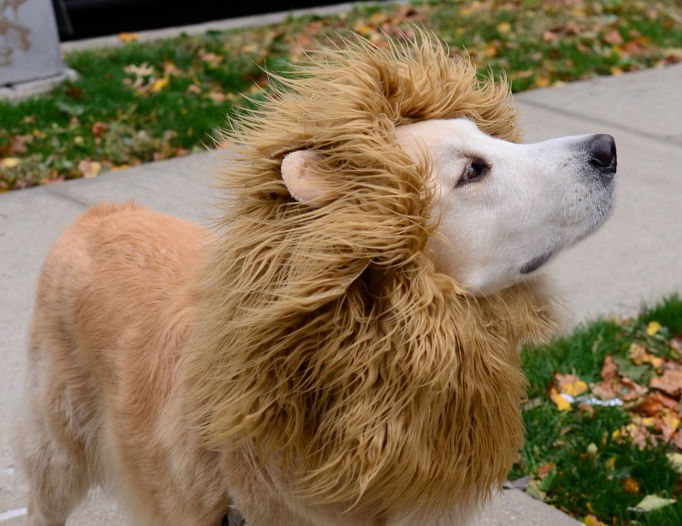
<svg viewBox="0 0 682 526">
<path fill-rule="evenodd" d="M 593 232 L 611 208 L 616 149 L 608 135 L 515 144 L 449 119 L 400 126 L 396 138 L 415 163 L 427 156 L 432 167 L 436 268 L 476 295 L 522 280 Z M 282 163 L 299 201 L 324 201 L 317 159 L 297 151 Z"/>
</svg>

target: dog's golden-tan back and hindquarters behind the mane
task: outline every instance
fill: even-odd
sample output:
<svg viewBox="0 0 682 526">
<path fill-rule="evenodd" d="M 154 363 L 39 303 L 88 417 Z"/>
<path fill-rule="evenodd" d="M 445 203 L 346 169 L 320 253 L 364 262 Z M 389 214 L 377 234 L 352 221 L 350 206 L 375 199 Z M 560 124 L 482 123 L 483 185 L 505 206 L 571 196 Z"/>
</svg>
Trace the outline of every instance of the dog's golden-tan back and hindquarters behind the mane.
<svg viewBox="0 0 682 526">
<path fill-rule="evenodd" d="M 189 484 L 174 480 L 173 466 L 186 479 L 186 464 L 196 461 L 185 446 L 163 443 L 174 425 L 163 412 L 174 408 L 177 357 L 208 236 L 134 204 L 102 204 L 50 251 L 38 283 L 18 440 L 31 486 L 30 526 L 64 524 L 97 483 L 129 493 L 136 515 L 148 515 L 150 524 L 153 516 L 182 515 L 172 502 L 161 504 L 166 510 L 139 508 L 159 486 Z M 222 490 L 195 491 L 197 510 L 215 517 L 211 504 L 224 505 Z M 196 523 L 210 524 L 197 510 Z"/>
</svg>

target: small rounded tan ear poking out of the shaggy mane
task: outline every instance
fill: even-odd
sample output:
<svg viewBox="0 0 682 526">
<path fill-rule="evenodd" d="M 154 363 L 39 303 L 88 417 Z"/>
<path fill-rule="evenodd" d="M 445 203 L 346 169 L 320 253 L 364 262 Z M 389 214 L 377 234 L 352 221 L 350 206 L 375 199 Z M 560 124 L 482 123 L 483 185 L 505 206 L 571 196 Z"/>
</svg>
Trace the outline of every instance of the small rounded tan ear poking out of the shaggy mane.
<svg viewBox="0 0 682 526">
<path fill-rule="evenodd" d="M 310 150 L 296 150 L 282 159 L 282 179 L 296 201 L 310 206 L 322 206 L 329 201 L 329 191 L 317 171 L 321 158 Z"/>
</svg>

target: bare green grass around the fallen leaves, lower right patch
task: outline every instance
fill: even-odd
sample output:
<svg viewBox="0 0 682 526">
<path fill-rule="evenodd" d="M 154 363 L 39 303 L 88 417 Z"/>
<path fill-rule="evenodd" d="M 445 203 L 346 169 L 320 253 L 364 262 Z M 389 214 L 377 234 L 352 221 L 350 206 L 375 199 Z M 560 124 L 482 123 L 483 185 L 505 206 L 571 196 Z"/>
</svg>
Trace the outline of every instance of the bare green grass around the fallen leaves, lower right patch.
<svg viewBox="0 0 682 526">
<path fill-rule="evenodd" d="M 650 322 L 662 328 L 648 334 Z M 529 402 L 523 411 L 527 437 L 510 478 L 533 476 L 530 493 L 579 519 L 593 514 L 613 525 L 682 524 L 682 480 L 666 457 L 674 451 L 673 445 L 659 440 L 640 449 L 619 432 L 631 421 L 636 402 L 596 406 L 593 413 L 575 406 L 559 411 L 548 396 L 555 372 L 599 383 L 606 356 L 625 367 L 633 343 L 679 362 L 670 339 L 680 333 L 682 299 L 674 295 L 643 309 L 636 319 L 596 321 L 549 345 L 524 349 L 523 369 L 529 380 Z M 655 374 L 651 373 L 649 377 Z M 631 511 L 645 495 L 679 501 L 650 514 Z"/>
</svg>

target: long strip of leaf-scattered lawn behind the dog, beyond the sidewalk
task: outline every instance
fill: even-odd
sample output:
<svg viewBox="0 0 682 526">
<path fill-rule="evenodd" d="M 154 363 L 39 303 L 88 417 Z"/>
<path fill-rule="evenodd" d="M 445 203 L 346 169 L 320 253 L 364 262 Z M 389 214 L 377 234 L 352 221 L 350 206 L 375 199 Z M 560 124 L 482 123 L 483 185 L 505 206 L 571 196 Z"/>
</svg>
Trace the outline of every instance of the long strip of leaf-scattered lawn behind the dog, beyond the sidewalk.
<svg viewBox="0 0 682 526">
<path fill-rule="evenodd" d="M 328 17 L 69 53 L 80 77 L 0 102 L 0 192 L 211 147 L 226 117 L 304 50 L 353 30 L 377 45 L 414 24 L 514 91 L 682 60 L 682 4 L 644 0 L 480 0 L 357 6 Z"/>
</svg>

